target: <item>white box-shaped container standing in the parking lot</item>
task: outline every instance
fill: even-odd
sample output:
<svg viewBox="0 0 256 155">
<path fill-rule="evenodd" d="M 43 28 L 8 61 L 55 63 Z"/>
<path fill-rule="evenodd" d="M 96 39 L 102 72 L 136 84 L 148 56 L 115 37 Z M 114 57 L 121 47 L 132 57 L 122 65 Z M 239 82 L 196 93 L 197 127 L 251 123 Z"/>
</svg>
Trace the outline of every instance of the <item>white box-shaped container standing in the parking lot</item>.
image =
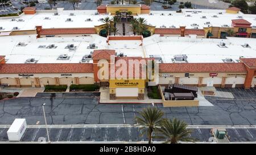
<svg viewBox="0 0 256 155">
<path fill-rule="evenodd" d="M 7 131 L 9 141 L 20 141 L 26 131 L 26 119 L 15 119 L 11 127 Z"/>
</svg>

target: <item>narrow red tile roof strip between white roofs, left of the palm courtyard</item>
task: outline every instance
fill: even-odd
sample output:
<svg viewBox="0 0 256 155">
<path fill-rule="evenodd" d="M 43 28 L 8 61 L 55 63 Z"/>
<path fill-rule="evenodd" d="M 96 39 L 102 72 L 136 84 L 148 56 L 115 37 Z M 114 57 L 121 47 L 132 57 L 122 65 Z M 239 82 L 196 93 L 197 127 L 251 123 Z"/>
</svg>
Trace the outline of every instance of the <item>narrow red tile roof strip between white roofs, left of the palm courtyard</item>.
<svg viewBox="0 0 256 155">
<path fill-rule="evenodd" d="M 46 28 L 40 35 L 95 34 L 95 28 Z"/>
</svg>

